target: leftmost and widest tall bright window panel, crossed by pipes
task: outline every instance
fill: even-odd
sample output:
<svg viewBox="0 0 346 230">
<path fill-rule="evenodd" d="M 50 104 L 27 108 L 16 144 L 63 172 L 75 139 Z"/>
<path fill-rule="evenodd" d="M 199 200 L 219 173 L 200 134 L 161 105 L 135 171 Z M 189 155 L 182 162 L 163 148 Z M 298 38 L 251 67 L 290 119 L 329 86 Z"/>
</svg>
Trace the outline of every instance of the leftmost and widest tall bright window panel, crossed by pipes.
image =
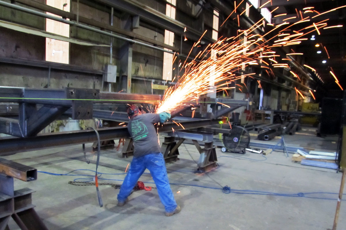
<svg viewBox="0 0 346 230">
<path fill-rule="evenodd" d="M 61 10 L 70 11 L 70 0 L 47 0 L 47 5 Z M 46 12 L 49 15 L 59 17 Z M 61 36 L 70 37 L 70 25 L 62 22 L 46 19 L 46 31 Z M 70 43 L 52 38 L 46 38 L 46 61 L 69 64 Z"/>
</svg>

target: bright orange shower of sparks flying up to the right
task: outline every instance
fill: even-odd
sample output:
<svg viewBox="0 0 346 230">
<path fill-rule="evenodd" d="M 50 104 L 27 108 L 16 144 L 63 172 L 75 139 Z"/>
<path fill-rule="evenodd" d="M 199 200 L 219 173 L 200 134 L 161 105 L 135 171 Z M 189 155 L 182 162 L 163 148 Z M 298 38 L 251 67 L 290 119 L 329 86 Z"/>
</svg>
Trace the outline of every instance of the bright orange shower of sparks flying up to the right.
<svg viewBox="0 0 346 230">
<path fill-rule="evenodd" d="M 270 2 L 271 1 L 265 2 L 262 7 Z M 237 12 L 238 6 L 235 6 L 235 9 L 231 13 L 237 14 L 237 16 L 235 17 L 236 19 L 238 19 L 239 15 L 239 12 Z M 170 113 L 179 113 L 180 110 L 186 107 L 191 107 L 190 103 L 198 104 L 200 102 L 199 100 L 201 96 L 208 96 L 211 93 L 224 90 L 226 91 L 227 89 L 234 88 L 230 87 L 232 82 L 246 77 L 253 78 L 252 75 L 254 75 L 255 73 L 238 73 L 239 70 L 249 65 L 258 65 L 261 68 L 269 69 L 268 71 L 265 70 L 268 74 L 268 77 L 271 75 L 275 77 L 272 68 L 286 68 L 292 73 L 293 77 L 298 78 L 297 81 L 301 81 L 298 75 L 291 71 L 291 68 L 287 63 L 279 63 L 277 60 L 275 60 L 276 57 L 280 58 L 281 56 L 276 54 L 276 52 L 271 48 L 300 44 L 301 41 L 308 40 L 307 35 L 309 33 L 312 33 L 314 31 L 320 33 L 320 29 L 322 28 L 333 28 L 326 27 L 326 21 L 328 19 L 319 22 L 310 22 L 310 19 L 339 8 L 342 7 L 338 7 L 323 13 L 313 11 L 311 12 L 311 14 L 315 12 L 316 15 L 313 17 L 308 16 L 306 18 L 303 18 L 302 14 L 299 14 L 297 10 L 297 19 L 300 19 L 301 17 L 299 21 L 296 21 L 294 23 L 284 21 L 281 24 L 270 24 L 272 26 L 272 29 L 266 32 L 264 35 L 260 35 L 256 31 L 256 29 L 262 26 L 262 21 L 264 20 L 264 18 L 262 18 L 246 30 L 238 30 L 238 34 L 235 37 L 221 37 L 215 43 L 208 44 L 207 46 L 203 47 L 200 46 L 200 44 L 202 37 L 207 32 L 205 31 L 202 37 L 193 44 L 186 60 L 183 63 L 179 63 L 179 73 L 182 73 L 182 75 L 176 77 L 177 81 L 174 86 L 171 86 L 165 90 L 163 100 L 158 101 L 155 112 L 160 113 L 166 111 Z M 271 13 L 276 9 L 278 9 L 278 7 L 272 10 Z M 308 10 L 313 8 L 304 9 Z M 222 27 L 225 22 L 231 17 L 231 14 L 221 24 L 220 27 Z M 279 14 L 274 16 L 274 18 L 285 15 L 286 14 Z M 293 17 L 283 20 L 289 19 L 293 19 Z M 298 31 L 290 29 L 291 26 L 298 23 L 302 23 L 302 25 L 305 25 L 302 26 L 303 29 L 300 29 Z M 306 37 L 304 38 L 304 36 Z M 328 51 L 326 48 L 325 50 L 328 55 Z M 192 61 L 188 62 L 187 60 L 191 53 L 197 53 L 197 55 Z M 296 53 L 293 51 L 286 54 L 286 56 L 302 54 L 303 53 Z M 289 58 L 282 58 L 281 60 L 292 61 L 292 59 Z M 269 61 L 270 63 L 268 63 Z M 304 66 L 315 71 L 315 69 L 310 66 Z M 336 81 L 336 83 L 339 85 L 338 81 Z M 339 87 L 341 88 L 340 85 Z M 297 92 L 297 95 L 300 94 L 300 96 L 304 98 L 303 94 L 298 89 L 295 88 L 295 90 Z M 192 116 L 194 116 L 194 113 L 192 114 Z M 181 126 L 181 124 L 177 125 Z"/>
</svg>

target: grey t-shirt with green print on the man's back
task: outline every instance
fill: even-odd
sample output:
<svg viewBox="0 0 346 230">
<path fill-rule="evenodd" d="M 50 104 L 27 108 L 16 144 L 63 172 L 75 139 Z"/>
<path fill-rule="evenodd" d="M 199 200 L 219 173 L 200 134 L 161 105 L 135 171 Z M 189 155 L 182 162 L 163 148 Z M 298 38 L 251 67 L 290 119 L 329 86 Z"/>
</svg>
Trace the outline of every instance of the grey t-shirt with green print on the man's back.
<svg viewBox="0 0 346 230">
<path fill-rule="evenodd" d="M 130 119 L 127 129 L 134 140 L 134 157 L 161 152 L 154 126 L 158 122 L 160 115 L 157 113 L 139 114 Z"/>
</svg>

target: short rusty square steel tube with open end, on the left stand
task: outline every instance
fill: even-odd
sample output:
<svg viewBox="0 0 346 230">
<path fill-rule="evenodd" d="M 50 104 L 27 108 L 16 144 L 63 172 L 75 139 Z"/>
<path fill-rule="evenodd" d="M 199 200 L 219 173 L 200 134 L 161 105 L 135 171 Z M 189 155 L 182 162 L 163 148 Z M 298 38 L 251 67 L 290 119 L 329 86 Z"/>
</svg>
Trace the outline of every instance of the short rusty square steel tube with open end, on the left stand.
<svg viewBox="0 0 346 230">
<path fill-rule="evenodd" d="M 22 181 L 37 179 L 37 169 L 0 158 L 0 172 Z"/>
</svg>

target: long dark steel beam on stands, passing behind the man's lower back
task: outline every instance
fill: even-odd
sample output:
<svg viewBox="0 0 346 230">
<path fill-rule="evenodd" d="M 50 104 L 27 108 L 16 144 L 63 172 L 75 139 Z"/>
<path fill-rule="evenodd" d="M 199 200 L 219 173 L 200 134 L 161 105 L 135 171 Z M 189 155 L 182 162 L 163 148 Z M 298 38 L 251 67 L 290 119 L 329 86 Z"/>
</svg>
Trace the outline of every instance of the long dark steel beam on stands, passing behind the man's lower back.
<svg viewBox="0 0 346 230">
<path fill-rule="evenodd" d="M 221 119 L 209 119 L 200 121 L 180 122 L 185 129 L 198 128 L 217 124 Z M 167 123 L 159 128 L 159 132 L 168 132 L 174 128 L 175 130 L 183 129 L 174 123 Z M 129 137 L 127 127 L 102 128 L 98 130 L 100 140 L 113 140 L 118 138 Z M 15 153 L 32 151 L 43 148 L 52 148 L 57 146 L 68 146 L 73 144 L 83 144 L 97 141 L 94 130 L 78 130 L 69 132 L 45 133 L 38 134 L 36 137 L 28 138 L 1 138 L 1 153 Z"/>
</svg>

